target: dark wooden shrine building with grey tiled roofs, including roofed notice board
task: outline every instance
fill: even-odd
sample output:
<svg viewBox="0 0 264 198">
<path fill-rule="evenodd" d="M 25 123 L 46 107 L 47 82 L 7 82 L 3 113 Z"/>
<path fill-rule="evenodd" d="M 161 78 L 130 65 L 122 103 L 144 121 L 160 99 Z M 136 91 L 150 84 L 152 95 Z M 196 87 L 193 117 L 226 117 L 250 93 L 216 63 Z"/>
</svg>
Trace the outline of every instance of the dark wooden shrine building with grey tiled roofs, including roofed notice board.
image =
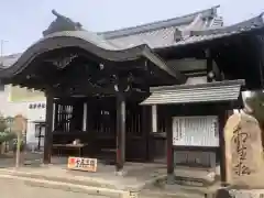
<svg viewBox="0 0 264 198">
<path fill-rule="evenodd" d="M 43 37 L 0 69 L 2 84 L 46 96 L 44 163 L 79 140 L 81 156 L 117 170 L 220 166 L 224 182 L 229 111 L 263 89 L 264 15 L 224 26 L 217 10 L 100 33 L 53 11 Z"/>
</svg>

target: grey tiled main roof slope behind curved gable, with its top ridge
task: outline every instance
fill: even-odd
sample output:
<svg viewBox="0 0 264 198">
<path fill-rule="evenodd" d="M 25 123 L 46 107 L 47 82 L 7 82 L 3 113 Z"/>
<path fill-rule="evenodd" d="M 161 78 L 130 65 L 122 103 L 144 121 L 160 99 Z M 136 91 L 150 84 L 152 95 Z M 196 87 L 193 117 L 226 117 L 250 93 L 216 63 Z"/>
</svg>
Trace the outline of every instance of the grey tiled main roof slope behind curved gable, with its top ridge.
<svg viewBox="0 0 264 198">
<path fill-rule="evenodd" d="M 211 21 L 217 18 L 217 8 L 213 7 L 166 21 L 98 34 L 117 45 L 125 45 L 128 47 L 141 44 L 147 44 L 151 48 L 166 47 L 175 43 L 176 30 L 191 28 L 195 30 L 208 29 Z M 199 18 L 199 21 L 193 24 L 197 18 Z"/>
</svg>

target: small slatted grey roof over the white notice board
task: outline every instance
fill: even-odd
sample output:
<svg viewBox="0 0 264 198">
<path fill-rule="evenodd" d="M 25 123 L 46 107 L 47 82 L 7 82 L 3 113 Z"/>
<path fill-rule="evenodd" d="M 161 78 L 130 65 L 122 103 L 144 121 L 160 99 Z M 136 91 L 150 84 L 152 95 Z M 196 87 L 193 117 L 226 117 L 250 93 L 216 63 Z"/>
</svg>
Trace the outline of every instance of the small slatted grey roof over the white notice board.
<svg viewBox="0 0 264 198">
<path fill-rule="evenodd" d="M 141 105 L 196 103 L 234 101 L 239 99 L 244 80 L 218 81 L 152 88 L 151 96 Z"/>
</svg>

